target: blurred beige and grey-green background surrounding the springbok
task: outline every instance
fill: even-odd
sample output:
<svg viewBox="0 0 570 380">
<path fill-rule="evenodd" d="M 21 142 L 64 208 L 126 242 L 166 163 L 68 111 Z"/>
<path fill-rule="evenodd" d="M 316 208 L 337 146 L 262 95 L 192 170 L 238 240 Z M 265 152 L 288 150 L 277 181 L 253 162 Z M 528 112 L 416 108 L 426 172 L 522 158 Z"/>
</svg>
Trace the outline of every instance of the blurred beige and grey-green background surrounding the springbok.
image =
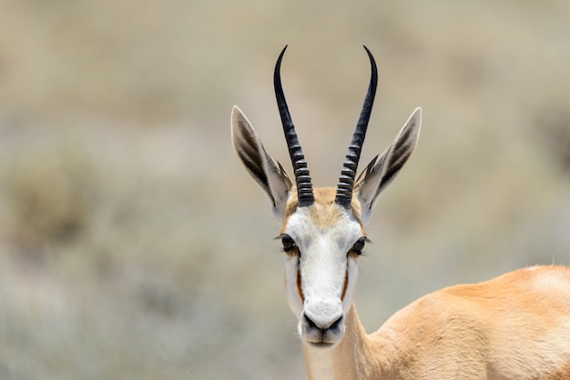
<svg viewBox="0 0 570 380">
<path fill-rule="evenodd" d="M 570 265 L 570 3 L 0 0 L 0 378 L 299 379 L 279 226 L 234 155 L 248 115 L 335 185 L 421 105 L 356 304 L 373 331 L 445 285 Z"/>
</svg>

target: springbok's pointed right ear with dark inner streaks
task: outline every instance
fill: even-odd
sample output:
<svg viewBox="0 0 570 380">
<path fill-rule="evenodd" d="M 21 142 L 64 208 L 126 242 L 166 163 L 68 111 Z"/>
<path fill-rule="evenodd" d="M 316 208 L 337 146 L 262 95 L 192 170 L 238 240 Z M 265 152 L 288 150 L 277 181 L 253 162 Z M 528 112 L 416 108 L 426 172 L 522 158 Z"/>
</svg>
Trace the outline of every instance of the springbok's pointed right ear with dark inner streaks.
<svg viewBox="0 0 570 380">
<path fill-rule="evenodd" d="M 418 143 L 421 125 L 422 108 L 418 107 L 388 149 L 380 155 L 380 158 L 378 155 L 375 156 L 358 175 L 354 184 L 354 192 L 361 203 L 363 223 L 366 223 L 372 216 L 372 208 L 376 205 L 378 195 L 390 185 L 412 155 Z"/>
</svg>

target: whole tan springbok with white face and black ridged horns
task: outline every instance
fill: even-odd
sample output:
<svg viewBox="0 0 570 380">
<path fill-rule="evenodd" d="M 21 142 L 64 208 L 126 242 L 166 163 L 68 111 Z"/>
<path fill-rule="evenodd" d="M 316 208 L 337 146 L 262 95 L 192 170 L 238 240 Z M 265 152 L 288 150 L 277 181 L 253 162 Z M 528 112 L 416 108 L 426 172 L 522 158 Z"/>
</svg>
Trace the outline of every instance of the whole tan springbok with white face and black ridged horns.
<svg viewBox="0 0 570 380">
<path fill-rule="evenodd" d="M 287 48 L 287 46 L 285 47 Z M 280 222 L 285 288 L 310 379 L 570 379 L 570 268 L 533 266 L 475 285 L 455 285 L 404 307 L 367 335 L 352 303 L 363 225 L 378 195 L 415 148 L 417 108 L 360 175 L 377 85 L 372 78 L 336 188 L 311 185 L 280 81 L 274 86 L 295 183 L 234 106 L 236 152 Z"/>
</svg>

